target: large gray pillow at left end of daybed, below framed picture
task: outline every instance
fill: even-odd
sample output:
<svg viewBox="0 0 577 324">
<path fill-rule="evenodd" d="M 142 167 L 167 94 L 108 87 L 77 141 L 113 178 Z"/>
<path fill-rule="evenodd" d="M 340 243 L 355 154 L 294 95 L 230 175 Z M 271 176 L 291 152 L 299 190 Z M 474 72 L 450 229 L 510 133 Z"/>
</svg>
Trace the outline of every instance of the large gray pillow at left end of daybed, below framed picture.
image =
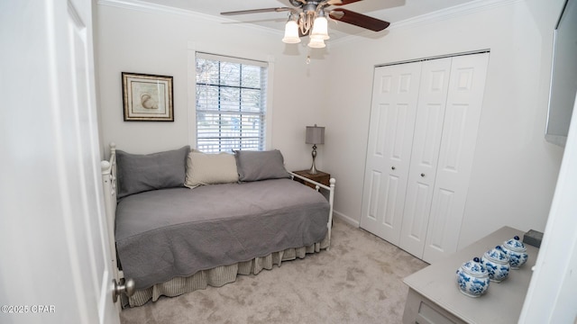
<svg viewBox="0 0 577 324">
<path fill-rule="evenodd" d="M 116 151 L 118 199 L 133 193 L 184 186 L 189 146 L 147 155 Z"/>
</svg>

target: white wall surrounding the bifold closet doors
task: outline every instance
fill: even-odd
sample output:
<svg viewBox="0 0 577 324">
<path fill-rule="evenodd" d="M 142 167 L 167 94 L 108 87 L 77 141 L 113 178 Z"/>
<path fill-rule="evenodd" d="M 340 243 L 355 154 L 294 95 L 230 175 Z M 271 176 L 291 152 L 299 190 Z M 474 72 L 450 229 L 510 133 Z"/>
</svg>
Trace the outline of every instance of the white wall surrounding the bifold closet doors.
<svg viewBox="0 0 577 324">
<path fill-rule="evenodd" d="M 469 14 L 395 27 L 334 45 L 325 106 L 335 210 L 360 220 L 375 65 L 490 49 L 478 143 L 459 246 L 503 225 L 543 231 L 563 149 L 544 139 L 554 23 L 562 0 L 493 2 Z M 506 5 L 503 5 L 506 4 Z M 344 91 L 344 86 L 347 90 Z M 330 161 L 330 162 L 328 162 Z"/>
</svg>

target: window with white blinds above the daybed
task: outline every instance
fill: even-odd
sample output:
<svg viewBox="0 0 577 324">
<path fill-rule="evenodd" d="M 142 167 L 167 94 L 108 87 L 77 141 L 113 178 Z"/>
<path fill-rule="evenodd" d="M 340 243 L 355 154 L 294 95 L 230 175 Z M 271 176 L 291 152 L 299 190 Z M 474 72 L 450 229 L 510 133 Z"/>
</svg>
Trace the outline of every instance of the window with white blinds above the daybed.
<svg viewBox="0 0 577 324">
<path fill-rule="evenodd" d="M 265 147 L 267 63 L 197 52 L 197 149 Z"/>
</svg>

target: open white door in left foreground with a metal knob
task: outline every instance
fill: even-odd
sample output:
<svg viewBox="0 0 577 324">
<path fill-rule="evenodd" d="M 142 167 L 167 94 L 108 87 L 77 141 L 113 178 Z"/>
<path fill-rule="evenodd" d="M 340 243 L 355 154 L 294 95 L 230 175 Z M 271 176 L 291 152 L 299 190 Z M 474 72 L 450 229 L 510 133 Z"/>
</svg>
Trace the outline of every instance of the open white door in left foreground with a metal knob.
<svg viewBox="0 0 577 324">
<path fill-rule="evenodd" d="M 120 322 L 99 180 L 91 10 L 88 0 L 0 4 L 0 322 Z"/>
</svg>

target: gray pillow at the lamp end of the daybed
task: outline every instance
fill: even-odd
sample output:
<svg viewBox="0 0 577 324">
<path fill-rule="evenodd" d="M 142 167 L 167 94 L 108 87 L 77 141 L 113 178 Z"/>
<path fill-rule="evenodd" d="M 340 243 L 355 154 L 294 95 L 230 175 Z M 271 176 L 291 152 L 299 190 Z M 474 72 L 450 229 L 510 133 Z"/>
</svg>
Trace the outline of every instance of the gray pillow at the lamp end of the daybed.
<svg viewBox="0 0 577 324">
<path fill-rule="evenodd" d="M 278 149 L 269 151 L 234 151 L 239 181 L 289 178 L 284 158 Z"/>
</svg>

